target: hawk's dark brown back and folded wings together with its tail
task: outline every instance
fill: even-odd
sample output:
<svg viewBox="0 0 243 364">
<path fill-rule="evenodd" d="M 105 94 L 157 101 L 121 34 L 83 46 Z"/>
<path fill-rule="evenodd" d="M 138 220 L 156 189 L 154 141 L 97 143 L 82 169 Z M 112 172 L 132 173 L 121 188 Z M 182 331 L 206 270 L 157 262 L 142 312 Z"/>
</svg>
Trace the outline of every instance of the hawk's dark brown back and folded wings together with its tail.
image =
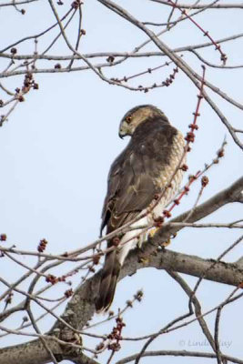
<svg viewBox="0 0 243 364">
<path fill-rule="evenodd" d="M 173 126 L 151 120 L 136 131 L 110 168 L 101 231 L 105 226 L 107 233 L 121 227 L 149 206 L 160 191 L 157 178 L 169 163 L 176 134 Z M 112 242 L 107 241 L 107 246 L 111 245 Z M 97 312 L 110 307 L 120 268 L 116 250 L 108 252 L 96 298 Z"/>
</svg>

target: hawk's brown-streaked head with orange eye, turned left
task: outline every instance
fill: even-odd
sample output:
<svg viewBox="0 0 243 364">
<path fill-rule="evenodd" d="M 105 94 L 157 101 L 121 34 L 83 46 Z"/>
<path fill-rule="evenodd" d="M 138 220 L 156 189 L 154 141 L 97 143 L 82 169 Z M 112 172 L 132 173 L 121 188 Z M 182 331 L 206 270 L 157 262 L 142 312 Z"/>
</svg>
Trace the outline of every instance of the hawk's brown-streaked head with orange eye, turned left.
<svg viewBox="0 0 243 364">
<path fill-rule="evenodd" d="M 144 123 L 148 119 L 153 120 L 154 117 L 162 117 L 167 120 L 167 116 L 153 105 L 140 105 L 131 108 L 125 116 L 123 116 L 119 126 L 119 136 L 132 136 L 137 126 Z M 168 121 L 167 121 L 168 122 Z"/>
</svg>

